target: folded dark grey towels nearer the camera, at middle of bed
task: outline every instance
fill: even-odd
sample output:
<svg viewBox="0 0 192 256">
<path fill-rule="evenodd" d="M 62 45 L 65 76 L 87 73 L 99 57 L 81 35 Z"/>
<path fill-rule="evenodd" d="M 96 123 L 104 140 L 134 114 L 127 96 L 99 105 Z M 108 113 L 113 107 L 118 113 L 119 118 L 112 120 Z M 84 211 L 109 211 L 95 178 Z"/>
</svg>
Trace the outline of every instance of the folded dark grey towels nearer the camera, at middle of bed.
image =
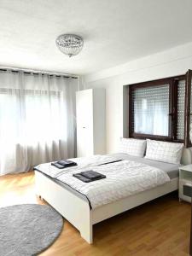
<svg viewBox="0 0 192 256">
<path fill-rule="evenodd" d="M 90 182 L 105 178 L 106 176 L 99 172 L 86 171 L 86 172 L 75 173 L 73 174 L 73 177 L 79 178 L 79 180 L 83 181 L 84 183 L 90 183 Z"/>
</svg>

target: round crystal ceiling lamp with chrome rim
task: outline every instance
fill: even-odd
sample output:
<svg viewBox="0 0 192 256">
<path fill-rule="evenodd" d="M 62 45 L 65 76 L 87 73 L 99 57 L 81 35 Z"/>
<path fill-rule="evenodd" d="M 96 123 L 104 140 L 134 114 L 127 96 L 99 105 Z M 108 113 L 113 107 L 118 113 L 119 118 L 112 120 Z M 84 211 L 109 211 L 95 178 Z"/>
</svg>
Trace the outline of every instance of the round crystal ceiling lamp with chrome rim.
<svg viewBox="0 0 192 256">
<path fill-rule="evenodd" d="M 56 45 L 62 53 L 72 57 L 73 55 L 78 55 L 83 49 L 84 40 L 77 35 L 64 34 L 56 38 Z"/>
</svg>

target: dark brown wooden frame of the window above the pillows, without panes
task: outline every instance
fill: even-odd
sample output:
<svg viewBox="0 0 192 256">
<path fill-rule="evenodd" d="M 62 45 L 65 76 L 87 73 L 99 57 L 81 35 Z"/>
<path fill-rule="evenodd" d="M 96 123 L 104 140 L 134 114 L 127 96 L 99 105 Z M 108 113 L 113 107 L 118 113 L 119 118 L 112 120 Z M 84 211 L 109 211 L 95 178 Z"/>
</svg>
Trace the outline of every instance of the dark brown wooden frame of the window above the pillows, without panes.
<svg viewBox="0 0 192 256">
<path fill-rule="evenodd" d="M 189 76 L 189 75 L 188 75 Z M 167 141 L 167 142 L 175 142 L 175 143 L 185 143 L 185 145 L 189 146 L 189 136 L 185 136 L 185 134 L 189 135 L 189 119 L 185 119 L 185 126 L 184 126 L 184 139 L 177 140 L 177 84 L 179 80 L 185 80 L 185 109 L 187 105 L 188 115 L 189 115 L 189 82 L 186 79 L 187 76 L 185 75 L 178 75 L 171 78 L 166 79 L 158 79 L 148 82 L 143 82 L 139 84 L 131 84 L 129 85 L 129 137 L 134 138 L 150 138 L 156 139 L 160 141 Z M 191 73 L 188 79 L 191 79 Z M 165 85 L 169 84 L 169 131 L 168 136 L 158 136 L 158 135 L 150 135 L 150 134 L 142 134 L 136 133 L 132 131 L 133 127 L 133 109 L 132 109 L 132 93 L 134 90 L 138 88 L 150 87 L 155 85 Z M 187 101 L 187 96 L 189 100 Z M 186 114 L 185 114 L 186 115 Z M 188 124 L 188 125 L 187 125 Z M 187 131 L 187 133 L 186 133 Z M 188 144 L 186 143 L 188 141 Z"/>
</svg>

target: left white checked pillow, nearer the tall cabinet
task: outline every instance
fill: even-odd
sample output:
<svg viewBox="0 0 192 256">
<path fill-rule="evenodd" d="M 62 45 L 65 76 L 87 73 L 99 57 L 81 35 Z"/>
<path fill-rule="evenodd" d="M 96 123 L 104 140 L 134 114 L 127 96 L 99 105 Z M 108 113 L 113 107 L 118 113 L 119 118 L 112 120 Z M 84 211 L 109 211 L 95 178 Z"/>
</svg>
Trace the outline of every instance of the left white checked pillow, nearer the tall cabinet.
<svg viewBox="0 0 192 256">
<path fill-rule="evenodd" d="M 143 157 L 146 150 L 146 140 L 120 138 L 119 152 Z"/>
</svg>

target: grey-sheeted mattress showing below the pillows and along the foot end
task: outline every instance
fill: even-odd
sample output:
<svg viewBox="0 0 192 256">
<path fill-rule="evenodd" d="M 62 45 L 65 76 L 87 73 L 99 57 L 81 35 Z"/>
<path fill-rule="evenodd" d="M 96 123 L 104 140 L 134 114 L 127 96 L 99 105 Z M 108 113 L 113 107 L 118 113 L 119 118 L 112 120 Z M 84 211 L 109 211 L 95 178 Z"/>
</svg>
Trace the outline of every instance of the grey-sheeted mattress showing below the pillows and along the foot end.
<svg viewBox="0 0 192 256">
<path fill-rule="evenodd" d="M 134 161 L 137 161 L 139 163 L 146 164 L 148 166 L 153 166 L 153 167 L 159 168 L 159 169 L 165 171 L 167 173 L 167 175 L 170 177 L 170 179 L 178 177 L 178 168 L 179 168 L 180 165 L 174 165 L 174 164 L 169 164 L 169 163 L 155 161 L 155 160 L 148 160 L 148 159 L 145 159 L 145 158 L 140 158 L 140 157 L 137 157 L 137 156 L 132 156 L 132 155 L 123 154 L 123 153 L 116 153 L 116 154 L 110 154 L 110 155 L 112 155 L 114 157 L 117 157 L 117 158 L 120 158 L 122 160 L 134 160 Z M 39 172 L 37 169 L 36 169 L 36 171 Z M 49 177 L 48 175 L 44 174 L 43 172 L 41 172 L 41 173 L 44 176 Z M 79 193 L 79 191 L 76 191 L 75 189 L 71 188 L 66 183 L 62 183 L 61 181 L 59 181 L 58 179 L 55 179 L 53 177 L 49 177 L 49 178 L 54 180 L 55 183 L 58 183 L 63 188 L 72 192 L 74 195 L 79 196 L 84 201 L 89 201 L 88 198 L 85 195 L 83 195 L 83 194 Z M 89 203 L 90 203 L 90 201 L 89 201 Z"/>
</svg>

